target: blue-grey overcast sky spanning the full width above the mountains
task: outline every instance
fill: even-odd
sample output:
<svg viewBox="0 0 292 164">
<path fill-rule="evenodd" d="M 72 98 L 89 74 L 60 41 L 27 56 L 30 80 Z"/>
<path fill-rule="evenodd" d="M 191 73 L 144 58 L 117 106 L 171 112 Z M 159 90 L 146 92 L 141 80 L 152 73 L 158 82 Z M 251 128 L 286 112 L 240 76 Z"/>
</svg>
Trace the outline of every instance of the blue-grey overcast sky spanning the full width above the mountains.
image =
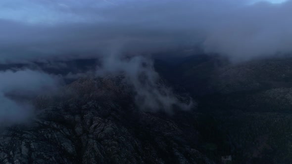
<svg viewBox="0 0 292 164">
<path fill-rule="evenodd" d="M 1 0 L 0 62 L 200 45 L 249 60 L 292 50 L 287 0 Z"/>
</svg>

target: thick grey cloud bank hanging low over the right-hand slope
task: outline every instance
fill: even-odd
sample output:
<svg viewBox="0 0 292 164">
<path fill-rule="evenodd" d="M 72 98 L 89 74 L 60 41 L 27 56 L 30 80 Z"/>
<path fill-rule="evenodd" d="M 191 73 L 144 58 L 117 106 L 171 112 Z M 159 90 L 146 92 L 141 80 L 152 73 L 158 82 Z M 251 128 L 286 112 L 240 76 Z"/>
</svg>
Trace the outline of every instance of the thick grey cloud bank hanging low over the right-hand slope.
<svg viewBox="0 0 292 164">
<path fill-rule="evenodd" d="M 267 2 L 243 6 L 217 17 L 206 27 L 203 41 L 207 52 L 227 55 L 234 61 L 291 53 L 292 1 L 281 4 Z"/>
</svg>

